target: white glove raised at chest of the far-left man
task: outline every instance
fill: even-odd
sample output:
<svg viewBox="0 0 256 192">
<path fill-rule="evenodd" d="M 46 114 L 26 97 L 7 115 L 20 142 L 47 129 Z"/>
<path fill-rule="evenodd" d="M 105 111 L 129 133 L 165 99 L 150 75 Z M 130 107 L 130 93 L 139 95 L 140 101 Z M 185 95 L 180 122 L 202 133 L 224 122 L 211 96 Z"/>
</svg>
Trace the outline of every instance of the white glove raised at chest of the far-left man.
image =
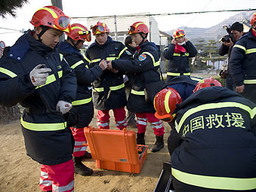
<svg viewBox="0 0 256 192">
<path fill-rule="evenodd" d="M 46 83 L 48 72 L 51 72 L 50 68 L 42 68 L 44 64 L 35 66 L 34 69 L 29 73 L 30 80 L 34 86 L 40 86 Z"/>
</svg>

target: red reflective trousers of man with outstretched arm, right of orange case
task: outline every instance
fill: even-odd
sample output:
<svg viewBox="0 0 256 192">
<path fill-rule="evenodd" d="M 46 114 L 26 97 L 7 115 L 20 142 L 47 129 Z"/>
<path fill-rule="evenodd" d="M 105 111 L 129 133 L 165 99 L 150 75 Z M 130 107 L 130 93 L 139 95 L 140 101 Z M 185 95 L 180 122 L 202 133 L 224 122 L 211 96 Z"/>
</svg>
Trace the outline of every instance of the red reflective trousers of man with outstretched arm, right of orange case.
<svg viewBox="0 0 256 192">
<path fill-rule="evenodd" d="M 155 117 L 152 113 L 136 113 L 137 133 L 146 133 L 147 121 L 154 130 L 155 136 L 163 136 L 165 127 L 162 125 L 162 120 Z"/>
</svg>

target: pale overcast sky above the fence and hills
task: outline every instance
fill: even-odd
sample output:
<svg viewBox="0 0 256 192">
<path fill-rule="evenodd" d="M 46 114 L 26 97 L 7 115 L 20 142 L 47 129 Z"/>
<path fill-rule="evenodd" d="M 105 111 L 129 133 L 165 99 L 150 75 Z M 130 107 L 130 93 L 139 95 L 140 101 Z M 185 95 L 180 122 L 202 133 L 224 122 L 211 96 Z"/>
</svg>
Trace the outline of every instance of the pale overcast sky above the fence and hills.
<svg viewBox="0 0 256 192">
<path fill-rule="evenodd" d="M 174 14 L 187 13 L 193 11 L 218 11 L 218 10 L 241 10 L 256 8 L 255 0 L 148 0 L 148 1 L 120 1 L 120 0 L 63 0 L 63 11 L 69 17 L 93 17 L 120 14 L 137 14 L 150 12 L 150 14 Z M 50 5 L 50 0 L 29 0 L 29 3 L 21 9 L 17 9 L 17 17 L 7 15 L 5 19 L 0 17 L 0 27 L 9 29 L 32 29 L 29 20 L 32 14 L 45 5 Z M 174 17 L 155 17 L 159 23 L 159 29 L 168 31 L 178 26 L 190 27 L 211 27 L 227 19 L 237 12 L 225 12 L 221 14 L 187 14 L 176 15 Z M 100 19 L 99 19 L 100 20 Z M 86 23 L 82 23 L 86 25 Z M 132 23 L 131 23 L 132 24 Z M 13 32 L 0 29 L 0 41 L 11 46 L 17 38 L 22 35 L 20 32 L 2 34 L 3 32 Z"/>
</svg>

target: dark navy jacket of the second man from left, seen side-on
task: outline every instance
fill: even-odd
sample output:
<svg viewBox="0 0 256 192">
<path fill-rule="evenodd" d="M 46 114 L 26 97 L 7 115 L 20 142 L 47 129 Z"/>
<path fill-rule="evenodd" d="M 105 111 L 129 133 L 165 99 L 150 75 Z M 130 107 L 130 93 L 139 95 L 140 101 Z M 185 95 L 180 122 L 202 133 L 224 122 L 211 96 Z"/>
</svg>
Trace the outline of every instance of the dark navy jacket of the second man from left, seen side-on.
<svg viewBox="0 0 256 192">
<path fill-rule="evenodd" d="M 88 69 L 88 65 L 86 65 L 88 62 L 86 62 L 84 56 L 67 41 L 61 42 L 58 48 L 69 63 L 69 66 L 74 69 L 76 73 L 77 92 L 76 99 L 72 102 L 71 109 L 71 111 L 78 114 L 76 127 L 88 126 L 94 115 L 94 108 L 91 101 L 91 83 L 102 75 L 103 70 L 100 66 L 94 66 Z"/>
</svg>

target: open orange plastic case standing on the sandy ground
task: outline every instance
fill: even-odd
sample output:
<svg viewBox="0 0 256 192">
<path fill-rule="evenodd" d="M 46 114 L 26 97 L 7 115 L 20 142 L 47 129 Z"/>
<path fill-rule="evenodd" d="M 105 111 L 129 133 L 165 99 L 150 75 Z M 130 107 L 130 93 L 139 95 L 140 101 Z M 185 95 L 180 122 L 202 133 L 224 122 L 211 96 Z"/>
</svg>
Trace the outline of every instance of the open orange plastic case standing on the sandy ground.
<svg viewBox="0 0 256 192">
<path fill-rule="evenodd" d="M 140 173 L 147 158 L 147 145 L 137 145 L 133 130 L 85 128 L 85 137 L 97 168 Z"/>
</svg>

